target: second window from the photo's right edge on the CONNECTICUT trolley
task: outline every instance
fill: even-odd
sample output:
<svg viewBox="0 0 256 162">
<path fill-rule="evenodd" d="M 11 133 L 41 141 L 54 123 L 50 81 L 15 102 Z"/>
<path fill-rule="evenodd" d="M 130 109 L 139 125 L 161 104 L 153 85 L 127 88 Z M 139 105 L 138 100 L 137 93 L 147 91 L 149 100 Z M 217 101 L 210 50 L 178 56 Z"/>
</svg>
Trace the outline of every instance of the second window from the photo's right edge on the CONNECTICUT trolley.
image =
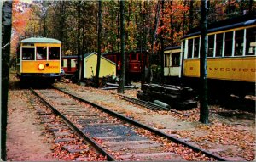
<svg viewBox="0 0 256 162">
<path fill-rule="evenodd" d="M 244 30 L 235 33 L 235 56 L 241 56 L 243 51 L 243 33 Z"/>
</svg>

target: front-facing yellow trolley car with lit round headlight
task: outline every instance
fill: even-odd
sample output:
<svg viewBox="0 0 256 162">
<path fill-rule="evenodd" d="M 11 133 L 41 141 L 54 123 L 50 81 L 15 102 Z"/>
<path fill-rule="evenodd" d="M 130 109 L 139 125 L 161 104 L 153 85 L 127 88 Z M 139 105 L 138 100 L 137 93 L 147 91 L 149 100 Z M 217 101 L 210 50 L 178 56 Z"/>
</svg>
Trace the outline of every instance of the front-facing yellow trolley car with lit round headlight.
<svg viewBox="0 0 256 162">
<path fill-rule="evenodd" d="M 16 57 L 20 81 L 56 81 L 61 78 L 61 41 L 31 37 L 20 42 Z"/>
</svg>

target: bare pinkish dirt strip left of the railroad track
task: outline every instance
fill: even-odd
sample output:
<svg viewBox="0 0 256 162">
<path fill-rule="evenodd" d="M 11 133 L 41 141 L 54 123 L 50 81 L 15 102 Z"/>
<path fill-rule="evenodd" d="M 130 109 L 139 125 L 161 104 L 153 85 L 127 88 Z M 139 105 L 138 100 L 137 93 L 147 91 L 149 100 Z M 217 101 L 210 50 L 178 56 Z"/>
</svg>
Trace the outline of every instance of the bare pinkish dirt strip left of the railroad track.
<svg viewBox="0 0 256 162">
<path fill-rule="evenodd" d="M 8 161 L 56 161 L 52 158 L 51 144 L 46 142 L 44 126 L 32 109 L 26 92 L 17 89 L 17 79 L 10 75 L 7 160 Z"/>
</svg>

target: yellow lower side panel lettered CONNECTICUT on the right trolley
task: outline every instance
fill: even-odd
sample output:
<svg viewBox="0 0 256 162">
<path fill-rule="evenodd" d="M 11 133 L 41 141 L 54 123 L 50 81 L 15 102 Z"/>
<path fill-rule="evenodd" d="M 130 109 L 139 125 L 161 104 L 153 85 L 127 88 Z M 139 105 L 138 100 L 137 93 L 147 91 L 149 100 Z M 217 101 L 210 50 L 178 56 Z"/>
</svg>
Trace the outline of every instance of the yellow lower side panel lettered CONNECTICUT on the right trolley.
<svg viewBox="0 0 256 162">
<path fill-rule="evenodd" d="M 207 59 L 207 78 L 255 82 L 255 67 L 255 57 Z M 188 77 L 199 77 L 199 59 L 185 59 L 183 75 Z"/>
</svg>

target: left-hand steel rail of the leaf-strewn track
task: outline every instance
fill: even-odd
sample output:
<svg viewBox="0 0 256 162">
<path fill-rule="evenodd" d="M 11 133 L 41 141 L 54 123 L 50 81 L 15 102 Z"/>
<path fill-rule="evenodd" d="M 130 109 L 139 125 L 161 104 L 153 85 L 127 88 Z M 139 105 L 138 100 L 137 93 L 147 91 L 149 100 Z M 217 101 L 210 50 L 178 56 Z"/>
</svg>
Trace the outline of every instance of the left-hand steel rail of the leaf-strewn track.
<svg viewBox="0 0 256 162">
<path fill-rule="evenodd" d="M 83 137 L 86 142 L 89 142 L 90 145 L 92 145 L 94 148 L 96 148 L 96 150 L 97 150 L 99 153 L 103 154 L 104 156 L 107 156 L 108 161 L 116 161 L 116 159 L 114 159 L 111 154 L 108 154 L 108 152 L 107 152 L 104 148 L 102 148 L 100 145 L 98 145 L 98 144 L 97 144 L 93 139 L 91 139 L 89 136 L 87 136 L 86 134 L 84 134 L 84 132 L 83 132 L 81 129 L 79 129 L 79 127 L 75 126 L 75 125 L 73 124 L 73 122 L 72 122 L 71 120 L 68 120 L 65 115 L 62 115 L 59 110 L 55 109 L 51 104 L 49 104 L 44 98 L 42 98 L 42 97 L 41 97 L 37 92 L 35 92 L 32 88 L 30 88 L 30 90 L 32 91 L 32 93 L 33 93 L 35 96 L 37 96 L 37 97 L 40 99 L 40 101 L 41 101 L 42 103 L 44 103 L 46 106 L 48 106 L 49 109 L 52 109 L 52 110 L 55 112 L 56 115 L 61 116 L 61 118 L 62 118 L 63 120 L 65 120 L 69 126 L 71 126 L 75 131 L 77 131 L 77 132 L 79 133 L 79 136 Z"/>
</svg>

